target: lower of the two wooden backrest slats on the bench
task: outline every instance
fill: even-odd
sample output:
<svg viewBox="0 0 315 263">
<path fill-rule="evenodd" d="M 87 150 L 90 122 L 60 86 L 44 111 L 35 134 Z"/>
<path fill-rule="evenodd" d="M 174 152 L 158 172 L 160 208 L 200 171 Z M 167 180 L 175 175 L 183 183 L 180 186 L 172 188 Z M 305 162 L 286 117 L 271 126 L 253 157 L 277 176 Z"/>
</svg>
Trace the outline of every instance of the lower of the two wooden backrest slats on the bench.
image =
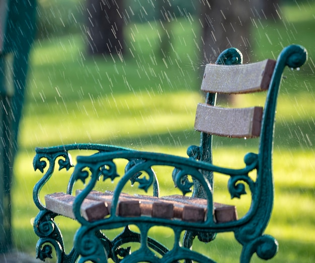
<svg viewBox="0 0 315 263">
<path fill-rule="evenodd" d="M 198 104 L 195 129 L 225 137 L 253 138 L 260 135 L 262 107 L 227 109 Z"/>
</svg>

